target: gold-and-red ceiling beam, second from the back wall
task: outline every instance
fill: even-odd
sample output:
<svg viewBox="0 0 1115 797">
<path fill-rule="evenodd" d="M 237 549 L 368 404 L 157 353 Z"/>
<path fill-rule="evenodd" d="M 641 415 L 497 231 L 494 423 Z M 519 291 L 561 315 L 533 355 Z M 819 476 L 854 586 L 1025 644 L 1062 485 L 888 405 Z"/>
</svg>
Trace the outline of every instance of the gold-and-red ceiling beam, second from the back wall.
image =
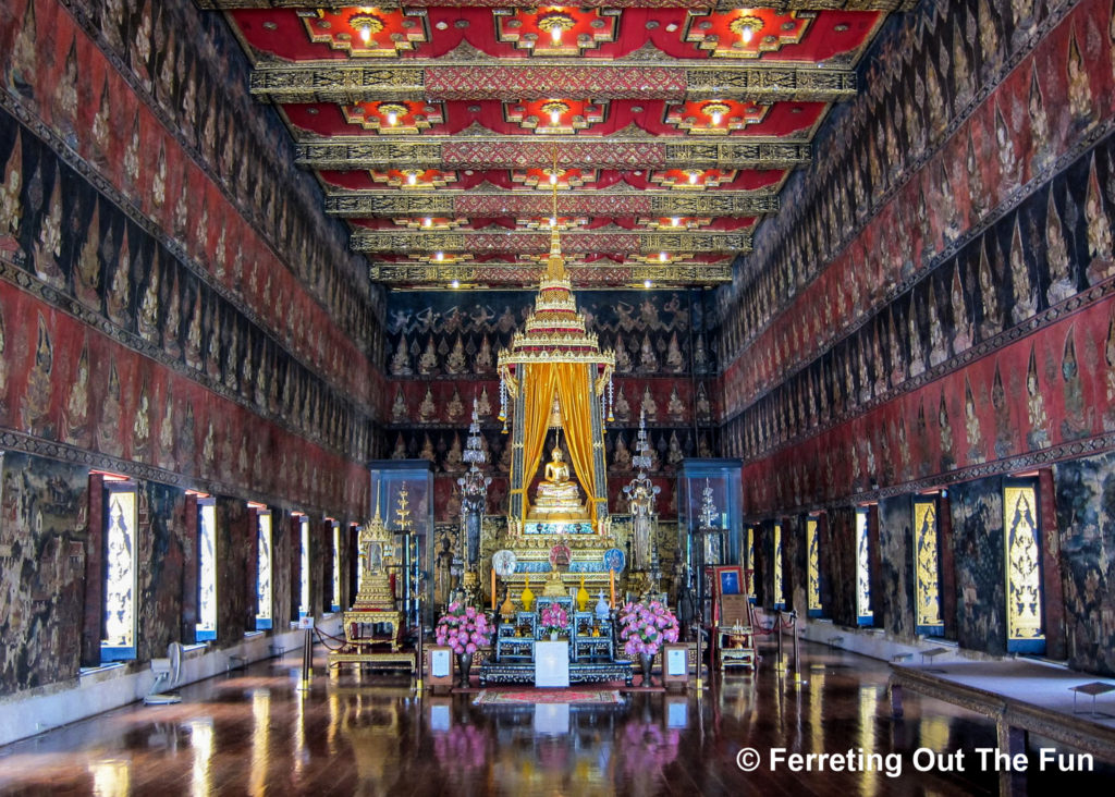
<svg viewBox="0 0 1115 797">
<path fill-rule="evenodd" d="M 349 246 L 363 253 L 468 253 L 468 254 L 545 254 L 550 234 L 533 230 L 460 230 L 456 232 L 359 230 L 349 237 Z M 686 230 L 647 233 L 628 230 L 579 230 L 561 236 L 565 253 L 629 253 L 653 255 L 659 252 L 736 254 L 752 251 L 750 229 L 731 232 Z"/>
</svg>

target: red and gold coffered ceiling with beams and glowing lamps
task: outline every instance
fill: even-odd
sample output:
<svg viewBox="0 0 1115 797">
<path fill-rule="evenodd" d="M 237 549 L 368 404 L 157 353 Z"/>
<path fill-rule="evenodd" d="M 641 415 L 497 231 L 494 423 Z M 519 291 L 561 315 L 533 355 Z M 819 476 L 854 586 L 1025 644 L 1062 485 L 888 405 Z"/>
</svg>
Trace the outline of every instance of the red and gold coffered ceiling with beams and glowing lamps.
<svg viewBox="0 0 1115 797">
<path fill-rule="evenodd" d="M 372 280 L 530 286 L 556 223 L 574 281 L 618 286 L 730 280 L 909 0 L 198 4 L 226 11 Z"/>
</svg>

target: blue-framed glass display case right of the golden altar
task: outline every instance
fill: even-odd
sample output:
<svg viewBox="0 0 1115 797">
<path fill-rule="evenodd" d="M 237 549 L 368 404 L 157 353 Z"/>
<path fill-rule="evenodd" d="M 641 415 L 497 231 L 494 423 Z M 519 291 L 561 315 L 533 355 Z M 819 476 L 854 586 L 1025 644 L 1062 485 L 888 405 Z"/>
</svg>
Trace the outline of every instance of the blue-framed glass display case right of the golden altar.
<svg viewBox="0 0 1115 797">
<path fill-rule="evenodd" d="M 694 597 L 705 599 L 706 621 L 712 616 L 712 568 L 740 564 L 743 470 L 741 459 L 688 458 L 678 470 L 678 550 Z"/>
</svg>

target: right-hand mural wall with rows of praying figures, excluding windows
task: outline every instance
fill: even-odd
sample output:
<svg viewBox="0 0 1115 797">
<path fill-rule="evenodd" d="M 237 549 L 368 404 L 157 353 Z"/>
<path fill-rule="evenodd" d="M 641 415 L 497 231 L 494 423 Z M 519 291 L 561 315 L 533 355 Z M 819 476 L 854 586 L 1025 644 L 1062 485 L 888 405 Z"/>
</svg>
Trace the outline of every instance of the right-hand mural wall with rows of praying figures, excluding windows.
<svg viewBox="0 0 1115 797">
<path fill-rule="evenodd" d="M 1050 645 L 1076 634 L 1070 660 L 1109 672 L 1095 543 L 1070 518 L 1103 516 L 1103 467 L 1079 457 L 1115 447 L 1115 8 L 924 7 L 881 35 L 861 81 L 717 294 L 721 439 L 746 461 L 747 511 L 828 511 L 826 614 L 849 623 L 841 521 L 879 500 L 875 623 L 911 639 L 909 502 L 948 486 L 946 628 L 998 653 L 998 477 L 1057 463 Z"/>
</svg>

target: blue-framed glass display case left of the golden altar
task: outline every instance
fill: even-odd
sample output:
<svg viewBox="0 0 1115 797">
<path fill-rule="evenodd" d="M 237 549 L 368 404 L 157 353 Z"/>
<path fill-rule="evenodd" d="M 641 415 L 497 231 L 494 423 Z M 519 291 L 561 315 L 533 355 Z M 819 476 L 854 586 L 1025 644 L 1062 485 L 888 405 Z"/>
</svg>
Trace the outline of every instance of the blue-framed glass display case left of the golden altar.
<svg viewBox="0 0 1115 797">
<path fill-rule="evenodd" d="M 424 622 L 434 621 L 434 466 L 426 459 L 375 460 L 371 477 L 371 513 L 379 512 L 395 536 L 394 550 L 385 552 L 395 574 L 395 596 L 408 625 L 418 624 L 418 591 L 421 590 Z"/>
</svg>

